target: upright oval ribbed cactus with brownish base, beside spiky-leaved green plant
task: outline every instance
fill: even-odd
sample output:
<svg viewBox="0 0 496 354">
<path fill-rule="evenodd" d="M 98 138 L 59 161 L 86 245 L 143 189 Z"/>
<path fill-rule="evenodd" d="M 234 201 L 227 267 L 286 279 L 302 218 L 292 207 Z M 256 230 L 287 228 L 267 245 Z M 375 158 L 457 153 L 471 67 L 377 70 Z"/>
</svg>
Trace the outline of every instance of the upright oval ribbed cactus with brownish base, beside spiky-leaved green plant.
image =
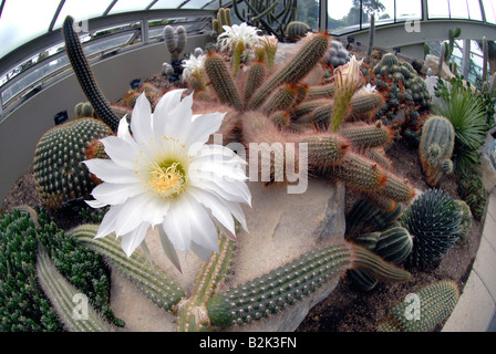
<svg viewBox="0 0 496 354">
<path fill-rule="evenodd" d="M 430 186 L 437 186 L 444 175 L 453 171 L 451 160 L 455 146 L 455 128 L 443 116 L 430 116 L 422 127 L 418 158 Z"/>
</svg>

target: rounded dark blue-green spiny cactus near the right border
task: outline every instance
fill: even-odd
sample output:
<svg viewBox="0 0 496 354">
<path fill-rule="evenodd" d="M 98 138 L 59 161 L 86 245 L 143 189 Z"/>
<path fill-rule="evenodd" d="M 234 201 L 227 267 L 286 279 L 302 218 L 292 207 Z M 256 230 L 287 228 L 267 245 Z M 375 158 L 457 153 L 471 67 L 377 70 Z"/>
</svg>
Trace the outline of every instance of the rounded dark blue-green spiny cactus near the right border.
<svg viewBox="0 0 496 354">
<path fill-rule="evenodd" d="M 430 267 L 437 266 L 458 240 L 462 214 L 447 192 L 427 189 L 405 209 L 400 222 L 414 236 L 407 263 Z"/>
</svg>

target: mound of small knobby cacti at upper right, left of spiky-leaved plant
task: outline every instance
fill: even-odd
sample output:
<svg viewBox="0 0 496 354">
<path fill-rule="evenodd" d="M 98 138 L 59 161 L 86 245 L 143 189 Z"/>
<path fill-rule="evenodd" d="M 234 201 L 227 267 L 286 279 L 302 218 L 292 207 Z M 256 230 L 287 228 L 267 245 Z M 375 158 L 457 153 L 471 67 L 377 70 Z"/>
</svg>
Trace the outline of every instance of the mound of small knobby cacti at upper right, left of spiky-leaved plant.
<svg viewBox="0 0 496 354">
<path fill-rule="evenodd" d="M 428 107 L 430 95 L 427 85 L 410 63 L 400 61 L 396 55 L 388 53 L 382 56 L 382 60 L 373 67 L 373 71 L 375 75 L 401 83 L 406 88 L 406 92 L 412 95 L 416 105 L 420 105 L 422 108 Z"/>
</svg>

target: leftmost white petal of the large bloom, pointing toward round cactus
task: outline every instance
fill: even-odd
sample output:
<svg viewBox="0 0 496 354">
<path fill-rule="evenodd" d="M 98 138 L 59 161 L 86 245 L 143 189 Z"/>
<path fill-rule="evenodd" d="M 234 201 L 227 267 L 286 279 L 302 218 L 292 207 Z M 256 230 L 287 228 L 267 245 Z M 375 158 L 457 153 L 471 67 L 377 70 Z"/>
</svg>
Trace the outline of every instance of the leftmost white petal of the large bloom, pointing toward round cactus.
<svg viewBox="0 0 496 354">
<path fill-rule="evenodd" d="M 111 184 L 134 184 L 140 181 L 133 169 L 117 165 L 111 159 L 92 158 L 83 162 L 90 171 Z"/>
</svg>

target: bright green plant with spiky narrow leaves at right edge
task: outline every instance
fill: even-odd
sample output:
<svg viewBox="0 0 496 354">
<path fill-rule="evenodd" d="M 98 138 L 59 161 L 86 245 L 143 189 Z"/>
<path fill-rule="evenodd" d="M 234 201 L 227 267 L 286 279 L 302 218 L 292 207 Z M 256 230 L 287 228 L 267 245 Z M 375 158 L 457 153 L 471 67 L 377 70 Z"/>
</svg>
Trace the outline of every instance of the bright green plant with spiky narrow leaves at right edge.
<svg viewBox="0 0 496 354">
<path fill-rule="evenodd" d="M 493 127 L 494 102 L 488 95 L 473 92 L 471 84 L 464 86 L 461 77 L 454 77 L 448 87 L 443 80 L 437 82 L 436 96 L 443 98 L 433 107 L 435 114 L 445 116 L 455 128 L 453 152 L 454 173 L 461 177 L 477 175 L 480 165 L 479 148 Z"/>
</svg>

